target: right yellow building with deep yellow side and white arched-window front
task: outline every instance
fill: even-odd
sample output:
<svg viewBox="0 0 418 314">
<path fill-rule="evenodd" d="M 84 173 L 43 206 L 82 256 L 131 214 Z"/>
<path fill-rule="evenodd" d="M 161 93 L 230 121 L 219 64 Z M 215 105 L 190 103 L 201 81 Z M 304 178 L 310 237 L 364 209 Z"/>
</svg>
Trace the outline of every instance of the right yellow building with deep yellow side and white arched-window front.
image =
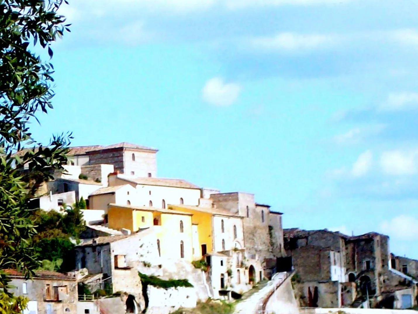
<svg viewBox="0 0 418 314">
<path fill-rule="evenodd" d="M 191 222 L 195 260 L 209 252 L 244 248 L 243 217 L 205 206 L 168 205 L 168 209 L 193 215 Z"/>
</svg>

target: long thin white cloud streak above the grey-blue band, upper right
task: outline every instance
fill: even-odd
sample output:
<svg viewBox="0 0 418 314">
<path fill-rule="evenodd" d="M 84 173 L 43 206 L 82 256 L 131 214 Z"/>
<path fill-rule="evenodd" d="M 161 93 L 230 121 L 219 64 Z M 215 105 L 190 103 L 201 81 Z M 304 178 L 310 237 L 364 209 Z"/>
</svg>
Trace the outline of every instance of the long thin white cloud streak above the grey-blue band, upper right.
<svg viewBox="0 0 418 314">
<path fill-rule="evenodd" d="M 267 51 L 300 51 L 321 49 L 337 41 L 334 35 L 279 33 L 250 39 L 250 46 Z"/>
</svg>

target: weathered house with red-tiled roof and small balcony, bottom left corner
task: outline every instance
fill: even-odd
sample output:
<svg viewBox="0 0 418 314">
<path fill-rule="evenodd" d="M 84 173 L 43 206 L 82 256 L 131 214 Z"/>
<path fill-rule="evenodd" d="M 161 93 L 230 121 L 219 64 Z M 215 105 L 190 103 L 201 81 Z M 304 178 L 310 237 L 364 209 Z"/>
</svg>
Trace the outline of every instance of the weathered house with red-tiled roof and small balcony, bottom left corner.
<svg viewBox="0 0 418 314">
<path fill-rule="evenodd" d="M 16 296 L 28 298 L 28 314 L 76 313 L 78 292 L 76 279 L 52 271 L 36 271 L 32 280 L 16 270 L 5 270 Z M 89 312 L 86 312 L 89 313 Z"/>
</svg>

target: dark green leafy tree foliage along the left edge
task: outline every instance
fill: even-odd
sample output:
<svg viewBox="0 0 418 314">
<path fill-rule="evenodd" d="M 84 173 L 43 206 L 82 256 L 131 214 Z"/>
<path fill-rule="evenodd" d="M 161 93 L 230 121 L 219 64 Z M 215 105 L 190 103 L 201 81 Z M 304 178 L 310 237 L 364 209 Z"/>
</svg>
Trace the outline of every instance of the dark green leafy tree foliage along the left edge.
<svg viewBox="0 0 418 314">
<path fill-rule="evenodd" d="M 32 237 L 29 198 L 38 186 L 63 170 L 70 134 L 53 136 L 43 146 L 29 123 L 52 108 L 54 67 L 33 51 L 45 49 L 64 34 L 63 0 L 0 0 L 0 270 L 15 268 L 29 278 L 39 262 Z M 64 0 L 64 2 L 66 2 Z M 33 147 L 23 149 L 23 147 Z M 0 272 L 0 313 L 18 313 L 20 298 Z"/>
</svg>

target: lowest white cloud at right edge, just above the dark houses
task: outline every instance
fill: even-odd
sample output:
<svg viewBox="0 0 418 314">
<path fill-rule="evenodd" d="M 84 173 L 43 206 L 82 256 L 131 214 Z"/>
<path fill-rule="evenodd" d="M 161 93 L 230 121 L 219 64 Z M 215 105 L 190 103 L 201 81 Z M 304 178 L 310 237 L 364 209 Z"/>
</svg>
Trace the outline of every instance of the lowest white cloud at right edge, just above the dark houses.
<svg viewBox="0 0 418 314">
<path fill-rule="evenodd" d="M 382 232 L 395 239 L 405 241 L 418 240 L 418 219 L 412 216 L 400 215 L 380 225 Z"/>
</svg>

